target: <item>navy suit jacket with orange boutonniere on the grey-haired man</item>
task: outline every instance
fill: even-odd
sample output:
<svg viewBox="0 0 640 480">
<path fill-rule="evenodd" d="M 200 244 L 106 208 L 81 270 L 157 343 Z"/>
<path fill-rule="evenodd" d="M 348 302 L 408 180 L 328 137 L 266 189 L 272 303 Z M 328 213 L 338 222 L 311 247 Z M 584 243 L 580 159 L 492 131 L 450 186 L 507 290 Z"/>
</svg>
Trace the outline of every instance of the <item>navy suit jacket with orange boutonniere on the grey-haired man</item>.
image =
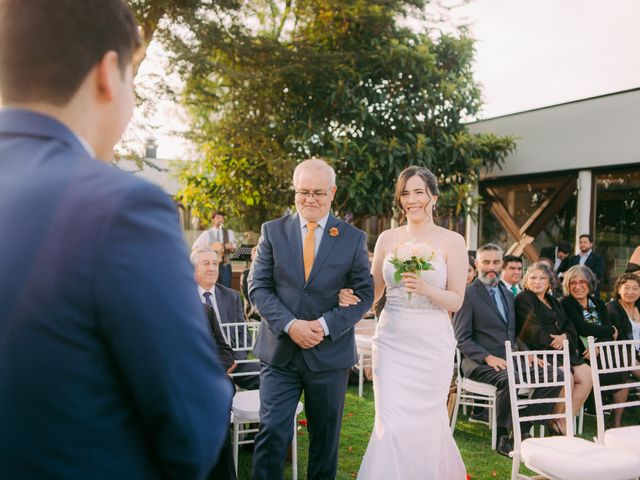
<svg viewBox="0 0 640 480">
<path fill-rule="evenodd" d="M 330 232 L 336 233 L 332 236 Z M 284 332 L 293 319 L 324 317 L 329 335 L 302 349 L 313 371 L 349 368 L 356 362 L 353 326 L 373 303 L 366 234 L 329 215 L 308 281 L 304 279 L 300 219 L 297 214 L 262 226 L 258 254 L 249 273 L 249 297 L 263 322 L 254 352 L 260 360 L 282 367 L 299 347 Z M 341 288 L 352 288 L 362 300 L 338 306 Z"/>
</svg>

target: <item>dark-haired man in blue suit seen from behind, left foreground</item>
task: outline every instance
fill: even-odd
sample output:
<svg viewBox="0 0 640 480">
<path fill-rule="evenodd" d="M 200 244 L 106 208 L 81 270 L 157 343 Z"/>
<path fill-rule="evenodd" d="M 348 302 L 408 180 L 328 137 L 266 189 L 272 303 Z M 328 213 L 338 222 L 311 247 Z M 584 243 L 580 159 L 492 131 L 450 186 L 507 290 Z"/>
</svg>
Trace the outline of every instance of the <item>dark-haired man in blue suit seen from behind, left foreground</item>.
<svg viewBox="0 0 640 480">
<path fill-rule="evenodd" d="M 101 160 L 122 0 L 0 0 L 0 477 L 204 479 L 229 422 L 175 206 Z"/>
</svg>

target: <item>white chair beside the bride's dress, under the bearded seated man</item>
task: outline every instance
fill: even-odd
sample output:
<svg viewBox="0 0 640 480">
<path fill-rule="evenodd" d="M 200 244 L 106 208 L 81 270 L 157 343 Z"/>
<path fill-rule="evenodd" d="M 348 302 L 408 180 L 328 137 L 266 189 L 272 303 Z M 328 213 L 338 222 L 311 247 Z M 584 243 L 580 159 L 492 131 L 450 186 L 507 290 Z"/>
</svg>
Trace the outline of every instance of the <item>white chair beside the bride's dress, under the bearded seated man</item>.
<svg viewBox="0 0 640 480">
<path fill-rule="evenodd" d="M 460 350 L 456 348 L 456 403 L 451 415 L 451 433 L 456 429 L 458 409 L 466 407 L 486 408 L 489 411 L 489 427 L 491 428 L 491 448 L 496 449 L 498 429 L 496 425 L 496 387 L 488 383 L 476 382 L 462 376 Z"/>
</svg>

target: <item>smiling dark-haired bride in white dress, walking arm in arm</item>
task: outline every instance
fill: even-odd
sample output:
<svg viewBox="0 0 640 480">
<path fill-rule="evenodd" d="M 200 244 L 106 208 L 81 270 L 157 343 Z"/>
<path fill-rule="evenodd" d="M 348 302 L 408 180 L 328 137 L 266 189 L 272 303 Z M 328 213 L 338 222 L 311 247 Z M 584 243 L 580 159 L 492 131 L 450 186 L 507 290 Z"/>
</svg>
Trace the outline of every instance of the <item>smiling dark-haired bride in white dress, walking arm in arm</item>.
<svg viewBox="0 0 640 480">
<path fill-rule="evenodd" d="M 383 232 L 373 254 L 376 302 L 386 302 L 373 337 L 375 424 L 358 478 L 464 480 L 465 467 L 447 418 L 456 340 L 448 312 L 464 299 L 464 239 L 433 223 L 438 184 L 431 171 L 408 167 L 395 203 L 406 225 Z M 390 258 L 404 242 L 426 243 L 433 269 L 394 281 Z M 422 248 L 424 250 L 424 246 Z M 358 302 L 350 290 L 340 304 Z"/>
</svg>

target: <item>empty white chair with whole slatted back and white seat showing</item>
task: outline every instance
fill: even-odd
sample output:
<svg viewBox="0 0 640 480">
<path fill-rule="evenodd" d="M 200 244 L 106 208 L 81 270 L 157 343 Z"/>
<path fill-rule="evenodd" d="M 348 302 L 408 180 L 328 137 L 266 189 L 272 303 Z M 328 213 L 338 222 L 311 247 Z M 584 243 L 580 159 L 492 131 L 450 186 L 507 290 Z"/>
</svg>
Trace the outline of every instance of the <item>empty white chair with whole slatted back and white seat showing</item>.
<svg viewBox="0 0 640 480">
<path fill-rule="evenodd" d="M 640 475 L 640 456 L 605 447 L 573 436 L 573 428 L 560 437 L 528 438 L 522 441 L 520 422 L 532 422 L 564 418 L 571 425 L 571 373 L 569 372 L 569 342 L 562 350 L 536 350 L 514 352 L 511 342 L 505 342 L 507 350 L 507 375 L 513 418 L 514 450 L 511 479 L 530 479 L 520 474 L 520 463 L 551 480 L 629 480 Z M 529 361 L 542 359 L 551 369 L 530 369 Z M 566 365 L 562 378 L 558 367 Z M 533 372 L 532 372 L 533 370 Z M 564 397 L 522 398 L 519 388 L 564 387 Z M 564 403 L 564 413 L 520 416 L 520 409 L 533 404 Z M 534 477 L 537 478 L 537 477 Z"/>
</svg>

